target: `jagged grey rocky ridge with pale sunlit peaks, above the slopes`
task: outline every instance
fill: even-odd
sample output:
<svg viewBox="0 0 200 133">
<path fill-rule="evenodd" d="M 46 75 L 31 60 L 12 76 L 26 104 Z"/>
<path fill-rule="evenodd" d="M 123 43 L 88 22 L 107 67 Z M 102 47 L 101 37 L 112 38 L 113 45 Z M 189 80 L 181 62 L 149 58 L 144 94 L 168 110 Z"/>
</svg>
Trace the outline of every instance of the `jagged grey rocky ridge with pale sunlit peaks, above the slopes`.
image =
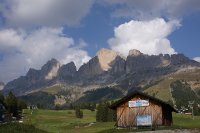
<svg viewBox="0 0 200 133">
<path fill-rule="evenodd" d="M 26 95 L 58 83 L 83 90 L 101 86 L 128 89 L 190 68 L 200 68 L 200 63 L 183 54 L 146 55 L 138 50 L 130 50 L 125 58 L 115 51 L 103 48 L 78 70 L 73 62 L 61 65 L 56 59 L 51 59 L 40 70 L 31 68 L 26 76 L 10 81 L 3 91 Z"/>
</svg>

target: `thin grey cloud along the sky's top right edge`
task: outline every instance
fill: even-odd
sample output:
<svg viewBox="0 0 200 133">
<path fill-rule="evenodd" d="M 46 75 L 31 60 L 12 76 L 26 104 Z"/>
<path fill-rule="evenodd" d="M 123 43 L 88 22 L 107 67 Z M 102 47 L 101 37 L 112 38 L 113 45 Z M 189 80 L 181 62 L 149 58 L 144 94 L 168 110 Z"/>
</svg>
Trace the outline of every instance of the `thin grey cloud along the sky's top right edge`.
<svg viewBox="0 0 200 133">
<path fill-rule="evenodd" d="M 116 7 L 113 12 L 115 17 L 140 20 L 155 17 L 182 18 L 184 15 L 200 11 L 199 0 L 103 0 L 103 2 Z"/>
</svg>

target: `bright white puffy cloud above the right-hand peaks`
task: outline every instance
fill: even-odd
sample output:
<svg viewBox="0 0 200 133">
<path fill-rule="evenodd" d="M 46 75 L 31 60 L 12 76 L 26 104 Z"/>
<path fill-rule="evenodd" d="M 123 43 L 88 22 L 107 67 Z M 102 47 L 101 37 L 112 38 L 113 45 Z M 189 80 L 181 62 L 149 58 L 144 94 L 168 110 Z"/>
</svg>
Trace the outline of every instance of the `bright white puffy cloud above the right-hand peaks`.
<svg viewBox="0 0 200 133">
<path fill-rule="evenodd" d="M 162 18 L 150 21 L 130 21 L 115 28 L 113 38 L 108 40 L 111 49 L 127 56 L 129 50 L 137 49 L 149 55 L 174 54 L 167 36 L 180 26 L 179 21 L 166 22 Z"/>
</svg>

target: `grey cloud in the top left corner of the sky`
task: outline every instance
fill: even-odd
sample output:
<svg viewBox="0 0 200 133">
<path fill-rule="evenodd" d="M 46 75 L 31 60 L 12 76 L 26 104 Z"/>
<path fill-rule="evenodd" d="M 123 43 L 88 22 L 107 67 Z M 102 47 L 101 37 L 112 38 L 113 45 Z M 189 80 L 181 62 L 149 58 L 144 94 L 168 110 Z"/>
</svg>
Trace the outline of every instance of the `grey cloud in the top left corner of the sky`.
<svg viewBox="0 0 200 133">
<path fill-rule="evenodd" d="M 76 25 L 94 0 L 2 0 L 0 14 L 9 26 Z"/>
</svg>

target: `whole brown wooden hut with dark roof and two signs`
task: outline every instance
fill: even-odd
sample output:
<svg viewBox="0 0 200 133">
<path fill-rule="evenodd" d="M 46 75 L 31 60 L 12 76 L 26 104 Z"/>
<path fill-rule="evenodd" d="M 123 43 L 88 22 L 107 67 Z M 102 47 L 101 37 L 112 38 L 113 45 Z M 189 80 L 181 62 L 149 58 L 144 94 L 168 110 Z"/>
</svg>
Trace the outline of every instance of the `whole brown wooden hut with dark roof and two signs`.
<svg viewBox="0 0 200 133">
<path fill-rule="evenodd" d="M 145 93 L 134 91 L 110 106 L 117 111 L 116 126 L 171 126 L 172 111 L 168 103 Z"/>
</svg>

